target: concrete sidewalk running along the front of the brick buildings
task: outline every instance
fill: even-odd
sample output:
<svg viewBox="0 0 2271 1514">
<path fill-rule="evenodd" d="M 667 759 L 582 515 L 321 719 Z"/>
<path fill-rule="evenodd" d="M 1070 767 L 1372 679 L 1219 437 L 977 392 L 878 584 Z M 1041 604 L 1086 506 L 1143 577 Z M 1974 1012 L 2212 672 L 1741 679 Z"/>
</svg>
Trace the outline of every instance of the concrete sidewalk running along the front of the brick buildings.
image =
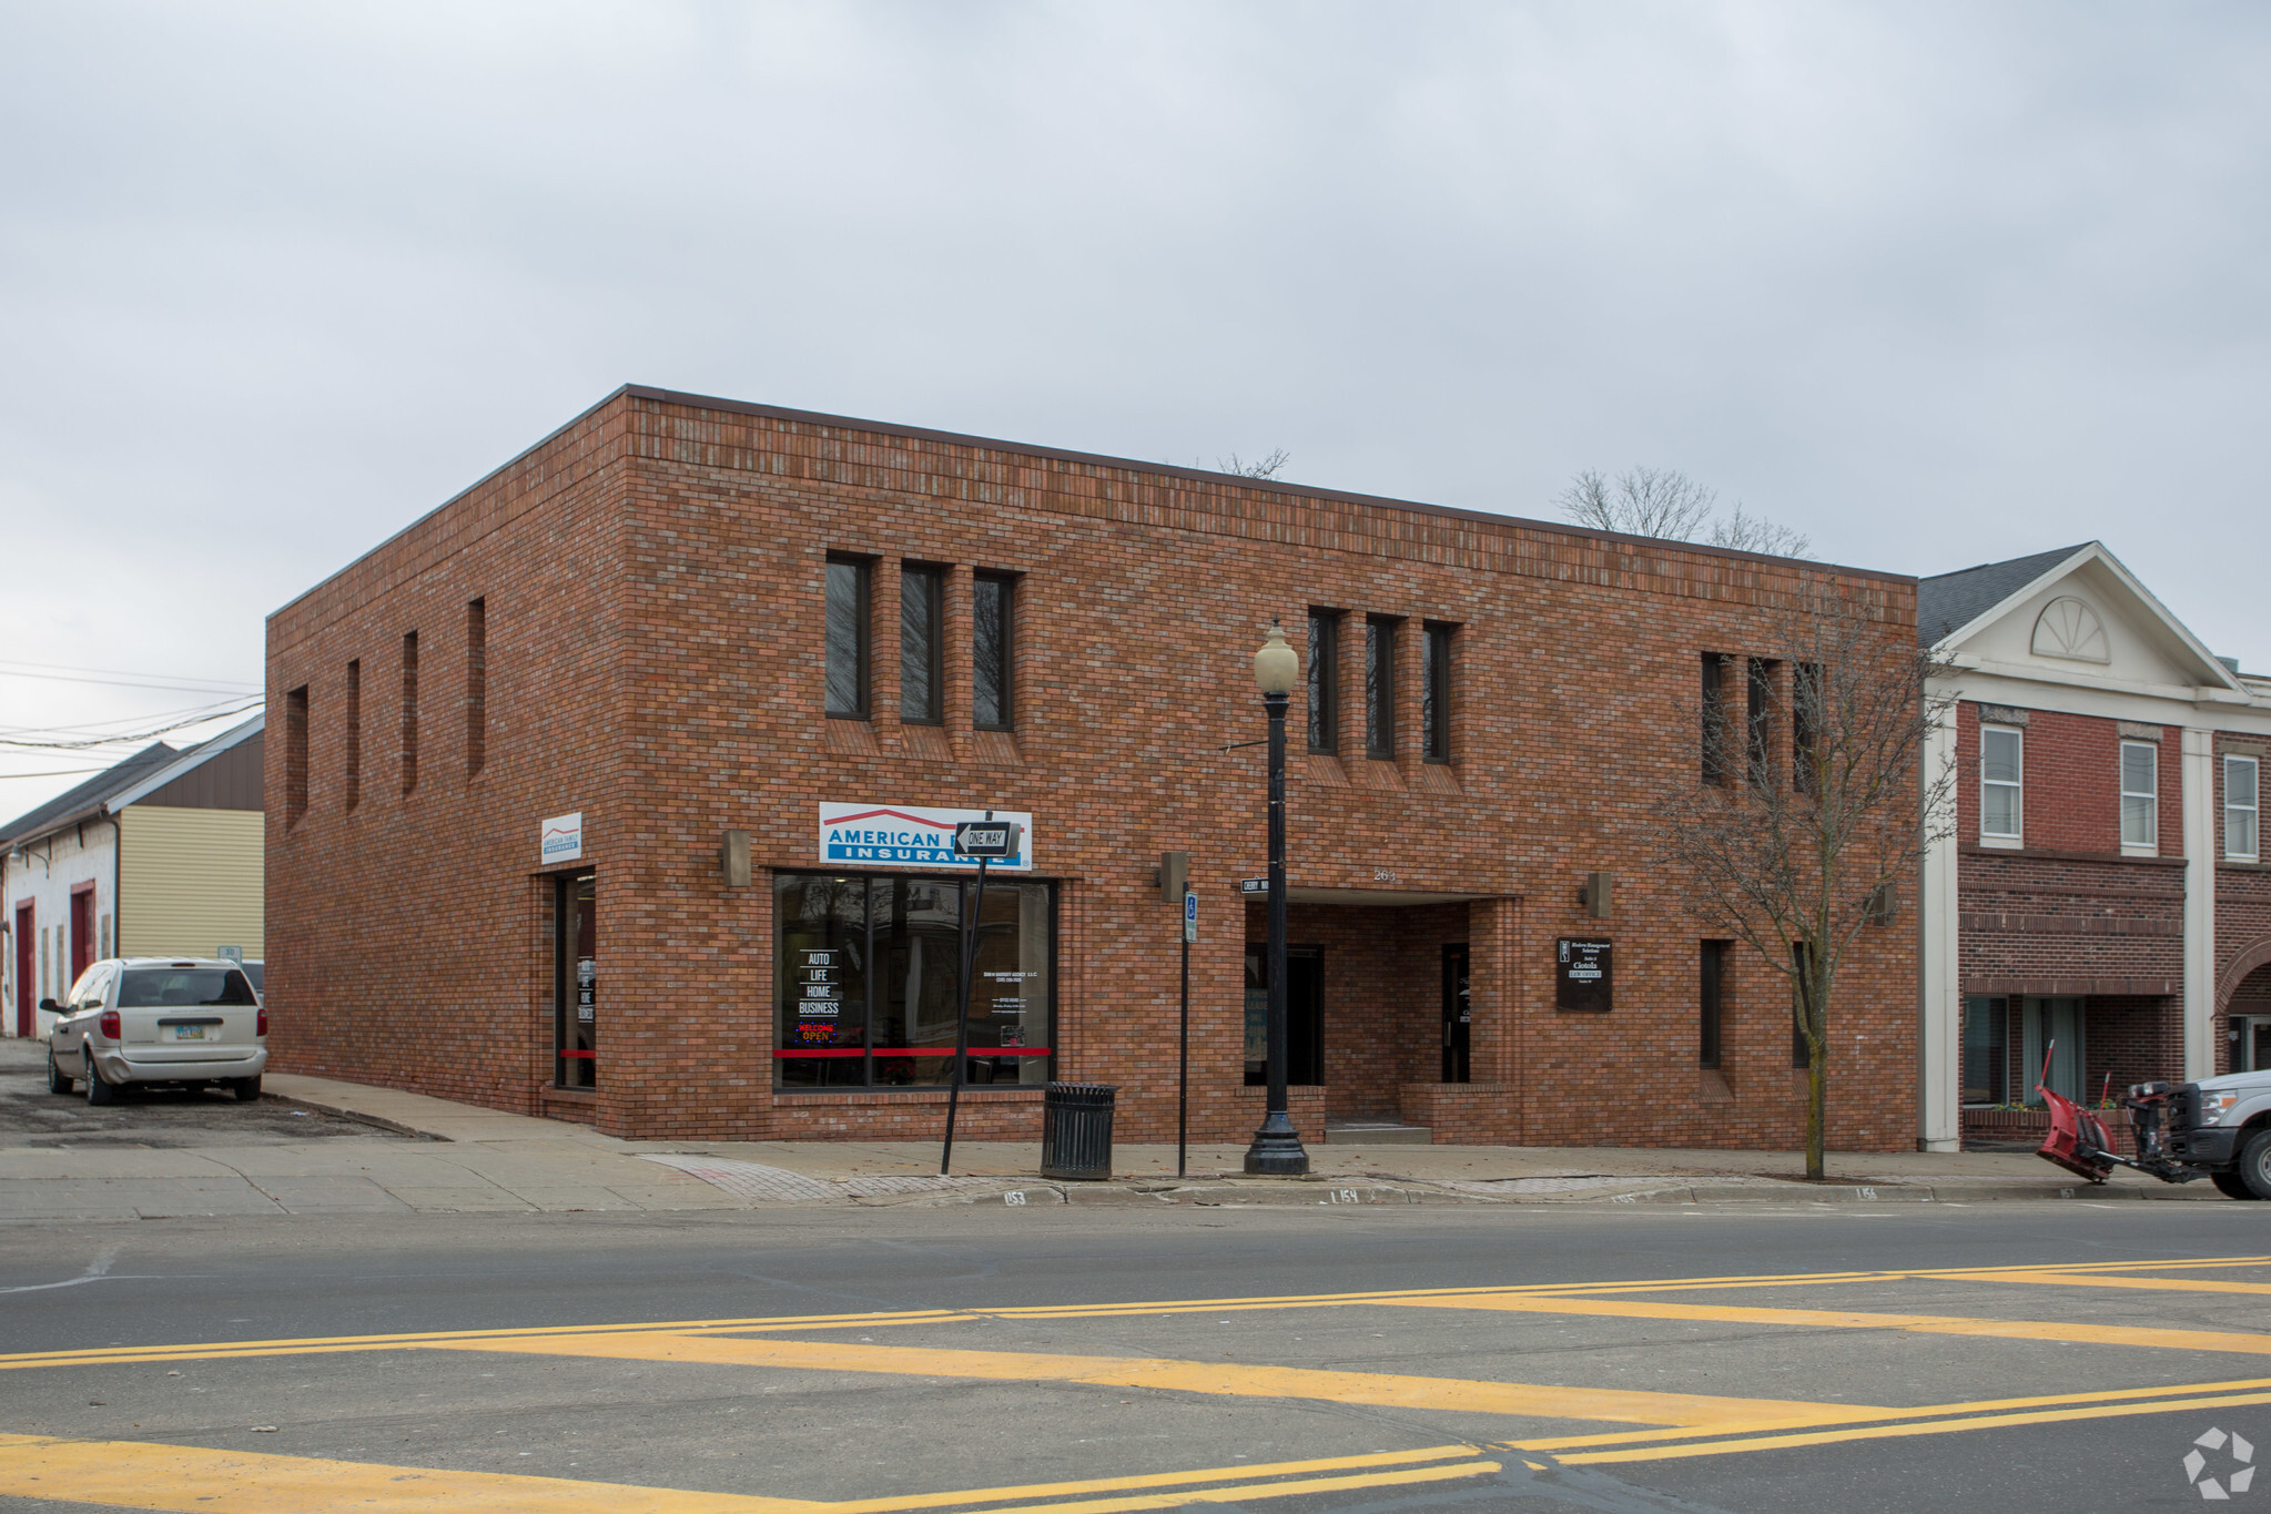
<svg viewBox="0 0 2271 1514">
<path fill-rule="evenodd" d="M 0 1076 L 34 1076 L 5 1042 Z M 938 1176 L 933 1142 L 625 1142 L 586 1126 L 425 1094 L 273 1074 L 273 1099 L 368 1124 L 368 1137 L 232 1144 L 216 1108 L 209 1144 L 9 1144 L 0 1221 L 173 1214 L 749 1210 L 783 1203 L 1980 1203 L 2010 1198 L 2207 1198 L 2117 1174 L 2092 1187 L 2026 1153 L 1837 1153 L 1808 1185 L 1790 1151 L 1631 1146 L 1310 1149 L 1308 1180 L 1240 1174 L 1242 1144 L 1120 1146 L 1113 1183 L 1047 1183 L 1038 1142 L 958 1142 Z M 45 1096 L 45 1094 L 43 1094 Z"/>
</svg>

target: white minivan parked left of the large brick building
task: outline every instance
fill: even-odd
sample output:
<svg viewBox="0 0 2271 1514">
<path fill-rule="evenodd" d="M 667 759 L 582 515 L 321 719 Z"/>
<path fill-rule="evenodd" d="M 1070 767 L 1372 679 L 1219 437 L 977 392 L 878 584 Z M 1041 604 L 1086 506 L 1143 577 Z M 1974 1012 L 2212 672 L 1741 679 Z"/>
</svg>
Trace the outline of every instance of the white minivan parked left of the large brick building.
<svg viewBox="0 0 2271 1514">
<path fill-rule="evenodd" d="M 48 1092 L 86 1083 L 111 1103 L 127 1083 L 220 1085 L 250 1103 L 268 1067 L 268 1010 L 227 958 L 109 958 L 39 1006 L 48 1031 Z"/>
</svg>

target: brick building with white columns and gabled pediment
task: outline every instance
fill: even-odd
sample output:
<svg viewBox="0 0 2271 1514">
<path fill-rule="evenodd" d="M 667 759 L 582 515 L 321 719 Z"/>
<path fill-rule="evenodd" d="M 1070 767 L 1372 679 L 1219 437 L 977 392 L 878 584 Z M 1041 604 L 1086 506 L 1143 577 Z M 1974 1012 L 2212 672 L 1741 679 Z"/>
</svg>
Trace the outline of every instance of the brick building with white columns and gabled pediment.
<svg viewBox="0 0 2271 1514">
<path fill-rule="evenodd" d="M 1921 1128 L 1949 1149 L 2035 1083 L 2271 1067 L 2271 679 L 2244 676 L 2101 542 L 1917 586 L 1955 699 L 1955 835 L 1924 865 Z M 2055 1044 L 2055 1051 L 2053 1051 Z"/>
</svg>

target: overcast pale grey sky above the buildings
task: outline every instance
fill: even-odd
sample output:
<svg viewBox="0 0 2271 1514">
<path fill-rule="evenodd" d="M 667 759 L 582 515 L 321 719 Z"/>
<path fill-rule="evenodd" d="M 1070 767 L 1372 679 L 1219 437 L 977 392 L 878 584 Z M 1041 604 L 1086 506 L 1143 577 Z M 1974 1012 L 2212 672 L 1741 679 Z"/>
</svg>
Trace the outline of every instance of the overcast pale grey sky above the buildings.
<svg viewBox="0 0 2271 1514">
<path fill-rule="evenodd" d="M 625 381 L 1517 515 L 1681 468 L 1914 574 L 2103 538 L 2271 672 L 2266 79 L 2262 5 L 0 2 L 0 729 L 257 690 Z"/>
</svg>

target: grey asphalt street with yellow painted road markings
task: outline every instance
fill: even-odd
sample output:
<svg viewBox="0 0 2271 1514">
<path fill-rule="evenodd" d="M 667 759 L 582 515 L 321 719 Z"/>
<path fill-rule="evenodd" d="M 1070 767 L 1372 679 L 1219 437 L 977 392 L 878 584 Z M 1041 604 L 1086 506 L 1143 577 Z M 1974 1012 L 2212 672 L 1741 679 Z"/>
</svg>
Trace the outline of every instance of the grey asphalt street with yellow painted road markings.
<svg viewBox="0 0 2271 1514">
<path fill-rule="evenodd" d="M 11 1509 L 2271 1498 L 2271 1205 L 286 1214 L 0 1276 Z"/>
</svg>

